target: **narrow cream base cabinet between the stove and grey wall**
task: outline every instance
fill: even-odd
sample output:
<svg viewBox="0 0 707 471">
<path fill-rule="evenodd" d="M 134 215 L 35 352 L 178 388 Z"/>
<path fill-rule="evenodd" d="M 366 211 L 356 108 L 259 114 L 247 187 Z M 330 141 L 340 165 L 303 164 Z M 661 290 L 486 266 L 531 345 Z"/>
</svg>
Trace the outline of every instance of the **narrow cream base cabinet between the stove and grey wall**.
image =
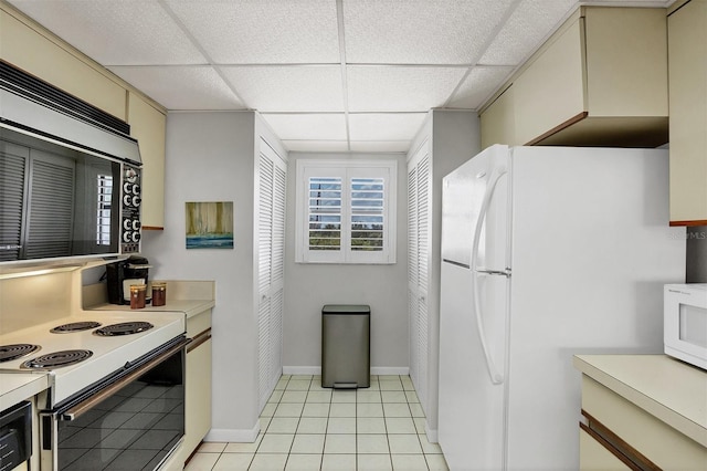
<svg viewBox="0 0 707 471">
<path fill-rule="evenodd" d="M 186 461 L 211 429 L 211 310 L 187 320 L 184 440 L 180 453 Z"/>
</svg>

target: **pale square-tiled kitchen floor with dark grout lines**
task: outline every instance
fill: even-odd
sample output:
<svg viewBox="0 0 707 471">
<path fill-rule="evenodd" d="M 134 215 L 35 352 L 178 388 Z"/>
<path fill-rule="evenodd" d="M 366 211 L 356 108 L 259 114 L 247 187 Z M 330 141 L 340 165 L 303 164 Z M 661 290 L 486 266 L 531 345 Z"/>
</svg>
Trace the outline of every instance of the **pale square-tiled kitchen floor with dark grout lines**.
<svg viewBox="0 0 707 471">
<path fill-rule="evenodd" d="M 202 443 L 186 471 L 446 469 L 409 376 L 333 390 L 319 376 L 284 375 L 254 443 Z"/>
</svg>

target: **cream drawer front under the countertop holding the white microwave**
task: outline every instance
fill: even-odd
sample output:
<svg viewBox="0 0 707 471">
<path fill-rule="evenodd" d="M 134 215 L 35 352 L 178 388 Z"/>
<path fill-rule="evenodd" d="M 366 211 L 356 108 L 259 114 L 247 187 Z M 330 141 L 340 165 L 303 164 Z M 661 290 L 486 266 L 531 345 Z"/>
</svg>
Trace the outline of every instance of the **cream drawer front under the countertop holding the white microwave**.
<svg viewBox="0 0 707 471">
<path fill-rule="evenodd" d="M 659 468 L 705 470 L 707 449 L 587 376 L 582 410 Z"/>
</svg>

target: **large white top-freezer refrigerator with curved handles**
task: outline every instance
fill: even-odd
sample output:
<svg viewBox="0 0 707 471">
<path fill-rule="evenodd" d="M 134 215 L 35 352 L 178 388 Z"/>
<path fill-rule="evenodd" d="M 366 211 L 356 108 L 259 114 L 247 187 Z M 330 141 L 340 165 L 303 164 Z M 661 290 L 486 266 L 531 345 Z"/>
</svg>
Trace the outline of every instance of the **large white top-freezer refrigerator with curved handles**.
<svg viewBox="0 0 707 471">
<path fill-rule="evenodd" d="M 439 441 L 452 471 L 579 468 L 573 354 L 662 353 L 685 279 L 663 149 L 485 149 L 443 180 Z"/>
</svg>

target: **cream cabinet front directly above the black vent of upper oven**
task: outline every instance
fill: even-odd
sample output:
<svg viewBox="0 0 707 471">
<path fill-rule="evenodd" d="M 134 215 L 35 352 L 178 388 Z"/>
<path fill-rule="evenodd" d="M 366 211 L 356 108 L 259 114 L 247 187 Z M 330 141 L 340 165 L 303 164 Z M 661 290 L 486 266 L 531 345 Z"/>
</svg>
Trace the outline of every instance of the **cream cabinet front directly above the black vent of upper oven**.
<svg viewBox="0 0 707 471">
<path fill-rule="evenodd" d="M 120 83 L 6 3 L 0 3 L 0 44 L 1 59 L 9 64 L 126 119 L 126 92 Z"/>
</svg>

